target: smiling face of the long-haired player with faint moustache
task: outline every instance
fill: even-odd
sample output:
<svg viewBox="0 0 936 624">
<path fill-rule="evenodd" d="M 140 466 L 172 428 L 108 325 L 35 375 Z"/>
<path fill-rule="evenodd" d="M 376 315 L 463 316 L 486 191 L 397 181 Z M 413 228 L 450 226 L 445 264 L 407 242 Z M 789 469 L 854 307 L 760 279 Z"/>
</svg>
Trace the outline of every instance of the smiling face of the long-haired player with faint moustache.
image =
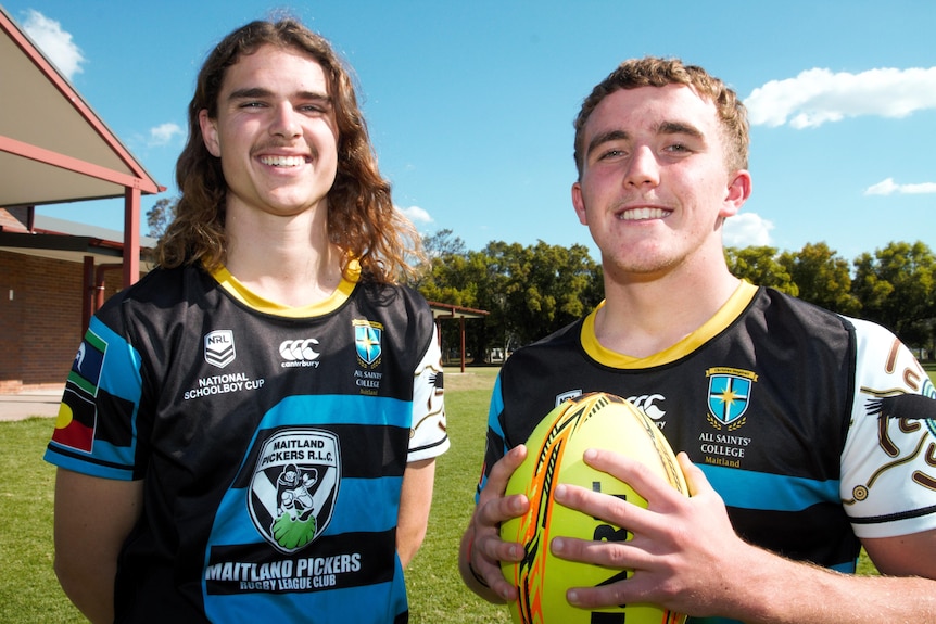
<svg viewBox="0 0 936 624">
<path fill-rule="evenodd" d="M 217 116 L 199 116 L 202 137 L 220 158 L 227 212 L 291 216 L 318 205 L 334 183 L 338 126 L 328 80 L 313 58 L 263 46 L 231 65 Z"/>
</svg>

